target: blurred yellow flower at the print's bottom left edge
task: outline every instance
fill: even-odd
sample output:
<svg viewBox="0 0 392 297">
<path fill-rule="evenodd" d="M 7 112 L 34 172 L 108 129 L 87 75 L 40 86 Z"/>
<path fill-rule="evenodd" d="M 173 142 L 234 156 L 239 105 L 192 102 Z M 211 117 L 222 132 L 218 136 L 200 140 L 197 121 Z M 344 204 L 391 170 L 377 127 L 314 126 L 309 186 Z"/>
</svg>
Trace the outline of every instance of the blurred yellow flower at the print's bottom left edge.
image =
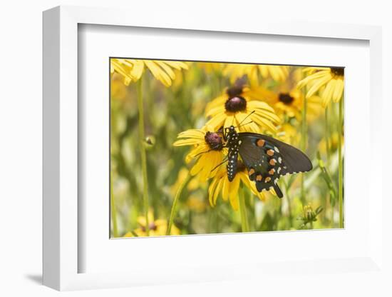
<svg viewBox="0 0 392 297">
<path fill-rule="evenodd" d="M 125 233 L 124 237 L 133 237 L 133 236 L 138 236 L 138 237 L 145 237 L 147 236 L 147 233 L 145 232 L 145 226 L 146 226 L 146 221 L 145 221 L 145 216 L 139 216 L 137 218 L 138 224 L 140 228 L 135 229 L 133 232 L 127 232 Z M 153 211 L 148 211 L 148 226 L 150 229 L 150 236 L 165 236 L 166 235 L 166 230 L 167 230 L 167 221 L 163 219 L 157 219 L 154 220 L 154 215 Z M 170 235 L 180 235 L 180 230 L 172 225 L 172 228 L 170 230 Z"/>
</svg>

